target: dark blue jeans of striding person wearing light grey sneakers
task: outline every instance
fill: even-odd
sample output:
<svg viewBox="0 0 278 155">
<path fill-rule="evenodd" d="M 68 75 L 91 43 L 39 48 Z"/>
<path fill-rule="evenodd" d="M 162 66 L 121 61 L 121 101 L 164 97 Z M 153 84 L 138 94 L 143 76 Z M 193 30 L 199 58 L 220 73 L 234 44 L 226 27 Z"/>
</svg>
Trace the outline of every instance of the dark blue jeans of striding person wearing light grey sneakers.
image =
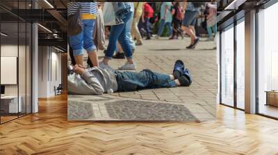
<svg viewBox="0 0 278 155">
<path fill-rule="evenodd" d="M 120 42 L 120 45 L 122 46 L 122 50 L 124 51 L 124 55 L 126 55 L 126 58 L 133 57 L 131 52 L 131 45 L 129 44 L 130 39 L 129 37 L 127 37 L 127 34 L 130 32 L 127 23 L 131 18 L 133 18 L 132 14 L 133 12 L 129 12 L 125 17 L 122 17 L 124 24 L 111 26 L 109 44 L 105 54 L 106 59 L 111 60 L 117 47 L 117 40 Z"/>
</svg>

